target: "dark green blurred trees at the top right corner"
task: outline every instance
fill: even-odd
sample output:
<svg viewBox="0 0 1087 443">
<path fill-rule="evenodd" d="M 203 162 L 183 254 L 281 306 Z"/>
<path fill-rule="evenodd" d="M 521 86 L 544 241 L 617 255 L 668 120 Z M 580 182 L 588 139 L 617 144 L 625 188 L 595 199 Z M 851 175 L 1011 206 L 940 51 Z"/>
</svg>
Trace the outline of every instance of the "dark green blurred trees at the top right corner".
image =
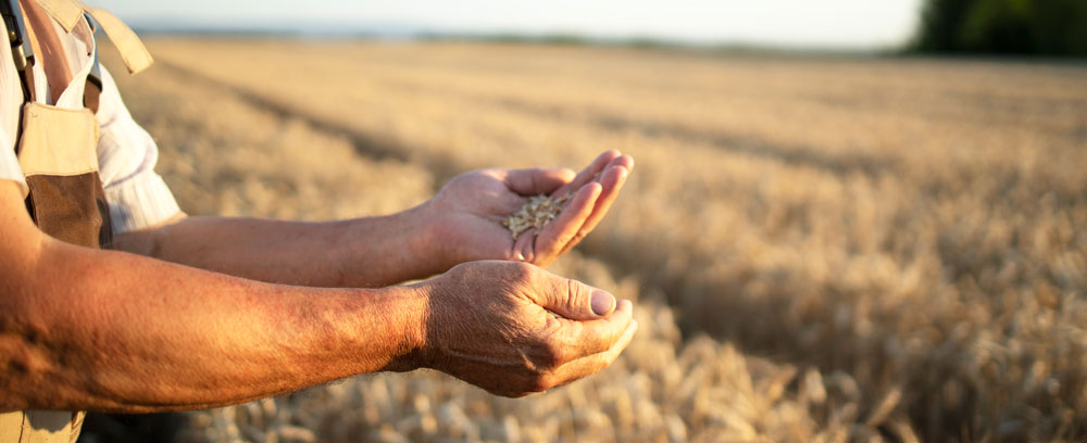
<svg viewBox="0 0 1087 443">
<path fill-rule="evenodd" d="M 913 49 L 1087 55 L 1087 0 L 926 0 Z"/>
</svg>

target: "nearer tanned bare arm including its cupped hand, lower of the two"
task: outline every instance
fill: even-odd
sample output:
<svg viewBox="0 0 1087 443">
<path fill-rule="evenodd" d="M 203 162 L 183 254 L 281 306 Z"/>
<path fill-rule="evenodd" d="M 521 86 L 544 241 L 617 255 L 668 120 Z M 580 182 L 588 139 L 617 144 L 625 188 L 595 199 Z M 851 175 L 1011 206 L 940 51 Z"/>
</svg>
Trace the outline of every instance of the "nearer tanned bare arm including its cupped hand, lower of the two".
<svg viewBox="0 0 1087 443">
<path fill-rule="evenodd" d="M 520 396 L 602 369 L 636 329 L 628 302 L 527 264 L 308 289 L 78 248 L 0 180 L 0 410 L 205 408 L 417 367 Z"/>
</svg>

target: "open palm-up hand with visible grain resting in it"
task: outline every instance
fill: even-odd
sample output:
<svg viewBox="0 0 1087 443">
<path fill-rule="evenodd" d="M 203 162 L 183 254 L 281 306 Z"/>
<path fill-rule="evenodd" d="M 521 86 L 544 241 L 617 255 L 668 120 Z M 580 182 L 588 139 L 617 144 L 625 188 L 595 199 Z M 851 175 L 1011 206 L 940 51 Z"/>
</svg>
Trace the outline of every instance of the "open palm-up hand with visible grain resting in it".
<svg viewBox="0 0 1087 443">
<path fill-rule="evenodd" d="M 476 260 L 547 266 L 573 249 L 608 213 L 634 159 L 608 151 L 578 174 L 565 168 L 484 169 L 454 177 L 426 204 L 439 255 L 448 266 Z M 516 240 L 501 221 L 528 197 L 571 195 L 542 231 Z"/>
</svg>

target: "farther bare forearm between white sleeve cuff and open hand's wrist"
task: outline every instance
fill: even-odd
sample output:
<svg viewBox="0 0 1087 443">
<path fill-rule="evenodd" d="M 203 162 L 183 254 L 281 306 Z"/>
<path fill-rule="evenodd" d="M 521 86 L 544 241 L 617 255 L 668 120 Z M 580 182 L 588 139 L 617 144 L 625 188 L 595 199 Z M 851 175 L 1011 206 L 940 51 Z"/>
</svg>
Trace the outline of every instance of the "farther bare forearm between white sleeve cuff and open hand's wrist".
<svg viewBox="0 0 1087 443">
<path fill-rule="evenodd" d="M 115 246 L 267 282 L 378 288 L 443 270 L 420 212 L 327 223 L 187 217 L 118 236 Z"/>
</svg>

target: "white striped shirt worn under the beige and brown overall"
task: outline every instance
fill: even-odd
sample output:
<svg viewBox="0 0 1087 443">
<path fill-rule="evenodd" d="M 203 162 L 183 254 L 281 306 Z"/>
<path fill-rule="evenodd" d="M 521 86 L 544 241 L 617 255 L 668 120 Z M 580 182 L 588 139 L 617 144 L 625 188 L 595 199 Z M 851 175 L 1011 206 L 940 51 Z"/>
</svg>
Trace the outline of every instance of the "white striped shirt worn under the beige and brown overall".
<svg viewBox="0 0 1087 443">
<path fill-rule="evenodd" d="M 97 48 L 93 31 L 83 18 L 65 33 L 53 22 L 64 46 L 68 65 L 73 69 L 72 83 L 53 104 L 66 109 L 83 109 L 83 89 L 87 74 L 95 61 Z M 0 30 L 7 26 L 0 21 Z M 36 96 L 46 103 L 48 81 L 40 64 L 35 66 Z M 110 205 L 113 232 L 123 233 L 159 224 L 180 212 L 170 188 L 154 173 L 159 148 L 154 140 L 135 121 L 121 100 L 113 77 L 101 66 L 102 93 L 99 98 L 98 117 L 101 138 L 98 141 L 99 176 Z M 17 134 L 18 113 L 23 105 L 23 90 L 18 72 L 12 61 L 11 46 L 0 43 L 0 179 L 14 180 L 24 195 L 26 179 L 15 156 L 14 135 Z"/>
</svg>

